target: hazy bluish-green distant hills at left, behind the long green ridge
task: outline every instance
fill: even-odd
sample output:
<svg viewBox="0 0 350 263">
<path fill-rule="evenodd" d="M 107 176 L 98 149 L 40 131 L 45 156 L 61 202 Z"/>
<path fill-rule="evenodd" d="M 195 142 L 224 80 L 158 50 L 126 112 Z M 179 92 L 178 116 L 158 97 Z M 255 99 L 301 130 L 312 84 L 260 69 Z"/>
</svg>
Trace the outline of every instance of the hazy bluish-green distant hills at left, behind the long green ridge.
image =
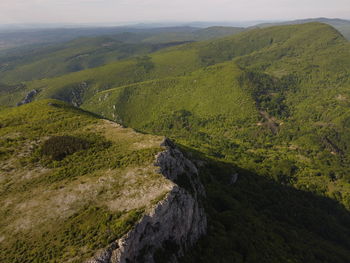
<svg viewBox="0 0 350 263">
<path fill-rule="evenodd" d="M 0 79 L 1 83 L 13 84 L 60 76 L 184 42 L 220 38 L 243 30 L 235 27 L 144 29 L 80 37 L 67 43 L 14 48 L 0 52 Z"/>
</svg>

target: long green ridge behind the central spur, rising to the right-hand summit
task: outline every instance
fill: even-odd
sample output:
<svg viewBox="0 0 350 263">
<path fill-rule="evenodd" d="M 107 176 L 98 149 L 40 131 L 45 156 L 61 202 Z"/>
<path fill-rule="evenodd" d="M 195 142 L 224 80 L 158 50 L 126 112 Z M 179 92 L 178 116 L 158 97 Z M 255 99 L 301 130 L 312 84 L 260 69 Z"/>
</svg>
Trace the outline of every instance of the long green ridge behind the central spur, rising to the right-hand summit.
<svg viewBox="0 0 350 263">
<path fill-rule="evenodd" d="M 96 69 L 28 82 L 25 89 L 16 90 L 18 93 L 14 95 L 11 92 L 2 92 L 0 102 L 15 105 L 20 101 L 19 98 L 23 98 L 33 89 L 40 91 L 38 98 L 51 97 L 70 101 L 79 94 L 81 100 L 85 100 L 97 91 L 144 80 L 182 76 L 196 69 L 229 61 L 264 48 L 278 48 L 286 40 L 298 41 L 298 38 L 304 38 L 309 43 L 318 41 L 317 35 L 308 38 L 310 30 L 328 32 L 326 37 L 339 35 L 331 27 L 322 24 L 255 29 L 219 40 L 170 47 L 148 56 L 111 63 Z M 80 88 L 82 83 L 88 84 L 83 91 Z"/>
</svg>

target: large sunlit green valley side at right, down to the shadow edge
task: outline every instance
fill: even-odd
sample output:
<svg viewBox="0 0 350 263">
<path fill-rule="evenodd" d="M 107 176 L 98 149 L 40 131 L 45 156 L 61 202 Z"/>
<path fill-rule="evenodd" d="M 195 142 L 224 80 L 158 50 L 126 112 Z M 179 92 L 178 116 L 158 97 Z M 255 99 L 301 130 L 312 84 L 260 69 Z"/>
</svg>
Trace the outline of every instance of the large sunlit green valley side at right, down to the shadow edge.
<svg viewBox="0 0 350 263">
<path fill-rule="evenodd" d="M 234 39 L 268 44 L 184 77 L 97 93 L 82 106 L 349 208 L 349 43 L 318 23 Z M 229 43 L 210 42 L 208 57 L 228 60 L 239 52 Z"/>
</svg>

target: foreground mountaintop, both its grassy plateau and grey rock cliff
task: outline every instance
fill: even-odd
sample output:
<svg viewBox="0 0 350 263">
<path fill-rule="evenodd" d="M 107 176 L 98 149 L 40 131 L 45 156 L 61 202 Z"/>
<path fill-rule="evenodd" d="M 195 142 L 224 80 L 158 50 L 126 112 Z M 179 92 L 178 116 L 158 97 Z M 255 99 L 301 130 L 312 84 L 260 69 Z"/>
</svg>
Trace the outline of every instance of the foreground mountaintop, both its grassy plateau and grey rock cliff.
<svg viewBox="0 0 350 263">
<path fill-rule="evenodd" d="M 182 256 L 206 231 L 204 190 L 163 141 L 54 100 L 1 110 L 0 261 L 84 262 L 99 249 L 118 252 L 103 262 Z"/>
</svg>

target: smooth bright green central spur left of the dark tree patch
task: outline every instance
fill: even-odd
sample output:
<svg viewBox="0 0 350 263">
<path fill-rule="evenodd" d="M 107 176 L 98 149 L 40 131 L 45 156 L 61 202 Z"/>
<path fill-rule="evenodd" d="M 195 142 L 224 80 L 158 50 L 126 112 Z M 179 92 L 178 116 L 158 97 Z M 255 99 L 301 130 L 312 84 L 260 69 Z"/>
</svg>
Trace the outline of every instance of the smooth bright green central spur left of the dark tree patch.
<svg viewBox="0 0 350 263">
<path fill-rule="evenodd" d="M 138 128 L 159 120 L 160 116 L 186 112 L 198 118 L 221 115 L 250 123 L 258 112 L 254 100 L 238 83 L 241 74 L 232 62 L 218 64 L 185 77 L 106 90 L 84 102 L 83 107 L 111 119 L 119 117 L 120 122 Z"/>
</svg>

